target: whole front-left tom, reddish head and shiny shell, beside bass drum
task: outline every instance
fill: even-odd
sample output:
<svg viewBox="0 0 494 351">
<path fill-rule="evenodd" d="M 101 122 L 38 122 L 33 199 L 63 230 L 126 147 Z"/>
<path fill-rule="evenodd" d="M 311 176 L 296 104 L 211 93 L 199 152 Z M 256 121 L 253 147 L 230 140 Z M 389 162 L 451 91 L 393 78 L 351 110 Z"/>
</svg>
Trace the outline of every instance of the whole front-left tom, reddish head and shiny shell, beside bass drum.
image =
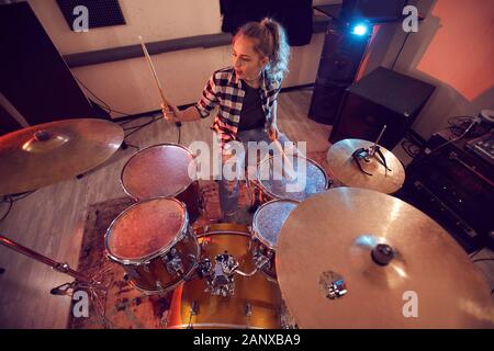
<svg viewBox="0 0 494 351">
<path fill-rule="evenodd" d="M 200 253 L 186 206 L 176 199 L 132 205 L 113 220 L 104 241 L 106 256 L 147 294 L 166 293 L 191 275 Z"/>
</svg>

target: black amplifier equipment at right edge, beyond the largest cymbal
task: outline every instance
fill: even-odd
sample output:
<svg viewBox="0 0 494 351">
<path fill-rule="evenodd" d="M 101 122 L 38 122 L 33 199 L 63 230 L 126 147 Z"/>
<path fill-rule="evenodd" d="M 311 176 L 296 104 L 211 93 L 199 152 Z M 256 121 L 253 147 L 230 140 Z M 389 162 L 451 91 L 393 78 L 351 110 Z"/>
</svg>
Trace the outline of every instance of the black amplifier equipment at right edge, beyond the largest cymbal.
<svg viewBox="0 0 494 351">
<path fill-rule="evenodd" d="M 450 137 L 436 134 L 428 146 Z M 468 252 L 493 246 L 494 168 L 465 140 L 434 148 L 406 168 L 400 196 L 441 224 Z M 434 150 L 436 149 L 436 150 Z"/>
</svg>

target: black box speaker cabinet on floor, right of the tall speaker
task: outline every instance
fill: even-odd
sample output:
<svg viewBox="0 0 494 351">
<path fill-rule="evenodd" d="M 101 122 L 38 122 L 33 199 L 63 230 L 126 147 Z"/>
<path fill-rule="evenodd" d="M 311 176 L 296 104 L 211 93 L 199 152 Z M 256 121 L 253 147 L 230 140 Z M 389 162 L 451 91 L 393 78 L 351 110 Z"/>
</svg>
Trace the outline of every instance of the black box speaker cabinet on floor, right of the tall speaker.
<svg viewBox="0 0 494 351">
<path fill-rule="evenodd" d="M 391 150 L 434 90 L 429 83 L 379 67 L 346 90 L 329 140 L 358 138 L 373 141 L 386 125 L 379 144 Z"/>
</svg>

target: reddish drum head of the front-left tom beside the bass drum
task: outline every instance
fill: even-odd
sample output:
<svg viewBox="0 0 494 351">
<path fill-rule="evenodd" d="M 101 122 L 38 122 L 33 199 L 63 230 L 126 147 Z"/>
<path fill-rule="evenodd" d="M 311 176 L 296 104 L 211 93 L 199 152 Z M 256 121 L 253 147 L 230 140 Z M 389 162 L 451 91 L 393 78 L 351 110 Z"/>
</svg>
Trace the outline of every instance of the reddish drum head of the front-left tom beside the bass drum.
<svg viewBox="0 0 494 351">
<path fill-rule="evenodd" d="M 154 199 L 122 212 L 106 231 L 109 256 L 136 263 L 166 252 L 187 225 L 184 205 L 175 199 Z"/>
</svg>

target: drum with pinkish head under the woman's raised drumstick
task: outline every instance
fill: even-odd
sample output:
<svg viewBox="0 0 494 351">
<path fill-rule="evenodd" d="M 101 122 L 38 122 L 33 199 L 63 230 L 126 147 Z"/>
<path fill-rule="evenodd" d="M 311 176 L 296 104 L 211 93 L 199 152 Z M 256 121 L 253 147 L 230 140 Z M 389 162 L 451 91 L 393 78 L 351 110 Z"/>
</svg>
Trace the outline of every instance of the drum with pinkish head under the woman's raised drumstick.
<svg viewBox="0 0 494 351">
<path fill-rule="evenodd" d="M 189 176 L 189 168 L 192 177 Z M 191 222 L 201 214 L 195 161 L 184 146 L 161 144 L 137 151 L 125 163 L 121 184 L 136 201 L 154 197 L 180 200 L 186 204 Z"/>
</svg>

